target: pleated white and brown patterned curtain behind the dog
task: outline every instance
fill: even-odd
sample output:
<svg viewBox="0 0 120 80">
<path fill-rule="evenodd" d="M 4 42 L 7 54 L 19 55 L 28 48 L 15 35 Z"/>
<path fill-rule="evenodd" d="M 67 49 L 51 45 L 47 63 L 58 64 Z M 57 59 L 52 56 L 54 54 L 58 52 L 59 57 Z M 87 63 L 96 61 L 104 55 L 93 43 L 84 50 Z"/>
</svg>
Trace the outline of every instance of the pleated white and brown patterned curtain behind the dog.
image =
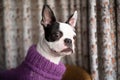
<svg viewBox="0 0 120 80">
<path fill-rule="evenodd" d="M 46 3 L 61 22 L 78 11 L 76 53 L 62 61 L 92 80 L 120 80 L 120 0 L 0 0 L 0 70 L 17 67 L 37 44 Z"/>
</svg>

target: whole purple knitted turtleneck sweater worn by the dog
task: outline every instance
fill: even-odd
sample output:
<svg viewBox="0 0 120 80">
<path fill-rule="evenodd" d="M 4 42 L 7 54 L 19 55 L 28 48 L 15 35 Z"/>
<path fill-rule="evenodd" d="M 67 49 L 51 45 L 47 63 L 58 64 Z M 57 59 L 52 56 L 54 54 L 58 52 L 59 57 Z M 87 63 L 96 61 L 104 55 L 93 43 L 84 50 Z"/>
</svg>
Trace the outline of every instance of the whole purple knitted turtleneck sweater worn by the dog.
<svg viewBox="0 0 120 80">
<path fill-rule="evenodd" d="M 0 72 L 0 80 L 61 80 L 64 72 L 62 63 L 56 65 L 50 62 L 32 46 L 20 66 Z"/>
</svg>

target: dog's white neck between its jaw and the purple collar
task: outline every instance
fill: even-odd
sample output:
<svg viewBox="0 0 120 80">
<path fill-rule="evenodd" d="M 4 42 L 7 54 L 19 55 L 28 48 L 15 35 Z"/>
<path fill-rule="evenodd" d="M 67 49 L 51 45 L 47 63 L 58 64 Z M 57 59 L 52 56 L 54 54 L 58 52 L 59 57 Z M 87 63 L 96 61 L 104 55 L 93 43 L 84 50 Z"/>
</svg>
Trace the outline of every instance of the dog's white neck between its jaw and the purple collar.
<svg viewBox="0 0 120 80">
<path fill-rule="evenodd" d="M 43 38 L 37 44 L 37 51 L 46 59 L 54 64 L 59 64 L 61 56 L 55 55 L 48 47 L 46 40 Z"/>
</svg>

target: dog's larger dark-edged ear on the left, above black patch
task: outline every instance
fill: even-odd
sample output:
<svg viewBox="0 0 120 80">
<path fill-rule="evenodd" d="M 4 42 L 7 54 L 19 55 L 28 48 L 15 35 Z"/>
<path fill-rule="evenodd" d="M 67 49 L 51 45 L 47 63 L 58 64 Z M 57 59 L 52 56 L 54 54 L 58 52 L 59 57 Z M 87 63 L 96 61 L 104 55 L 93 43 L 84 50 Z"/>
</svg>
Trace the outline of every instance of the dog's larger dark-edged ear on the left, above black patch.
<svg viewBox="0 0 120 80">
<path fill-rule="evenodd" d="M 41 24 L 46 27 L 56 21 L 52 9 L 48 5 L 43 6 Z"/>
</svg>

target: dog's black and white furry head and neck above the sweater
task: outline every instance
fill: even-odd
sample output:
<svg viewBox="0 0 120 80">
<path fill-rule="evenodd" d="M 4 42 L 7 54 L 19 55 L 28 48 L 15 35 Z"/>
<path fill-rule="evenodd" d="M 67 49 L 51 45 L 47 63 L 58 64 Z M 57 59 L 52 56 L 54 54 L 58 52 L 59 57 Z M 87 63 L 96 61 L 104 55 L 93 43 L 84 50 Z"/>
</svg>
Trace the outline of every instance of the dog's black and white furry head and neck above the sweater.
<svg viewBox="0 0 120 80">
<path fill-rule="evenodd" d="M 48 5 L 44 5 L 41 20 L 44 34 L 40 36 L 37 51 L 55 64 L 58 64 L 65 55 L 74 53 L 76 21 L 77 11 L 71 15 L 67 22 L 62 23 L 56 21 L 52 9 Z"/>
</svg>

